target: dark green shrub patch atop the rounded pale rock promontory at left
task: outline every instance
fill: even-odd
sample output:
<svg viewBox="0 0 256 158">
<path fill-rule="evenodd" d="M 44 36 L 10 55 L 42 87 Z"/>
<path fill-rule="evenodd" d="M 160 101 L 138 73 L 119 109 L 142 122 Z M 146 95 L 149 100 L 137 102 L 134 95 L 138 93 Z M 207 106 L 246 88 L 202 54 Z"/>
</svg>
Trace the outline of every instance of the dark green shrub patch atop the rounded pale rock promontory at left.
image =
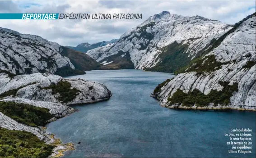
<svg viewBox="0 0 256 158">
<path fill-rule="evenodd" d="M 52 95 L 59 93 L 60 96 L 57 99 L 63 103 L 72 101 L 79 94 L 79 92 L 81 92 L 76 88 L 71 89 L 71 84 L 68 81 L 59 81 L 57 85 L 52 84 L 51 86 L 44 87 L 43 89 L 51 89 Z"/>
</svg>

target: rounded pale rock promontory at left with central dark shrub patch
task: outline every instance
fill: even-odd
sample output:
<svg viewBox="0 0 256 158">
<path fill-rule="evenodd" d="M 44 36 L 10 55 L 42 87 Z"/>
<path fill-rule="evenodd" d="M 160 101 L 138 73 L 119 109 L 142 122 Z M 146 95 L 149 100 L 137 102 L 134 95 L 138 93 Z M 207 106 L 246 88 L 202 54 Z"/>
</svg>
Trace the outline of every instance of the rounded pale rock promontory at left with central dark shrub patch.
<svg viewBox="0 0 256 158">
<path fill-rule="evenodd" d="M 85 104 L 109 99 L 110 90 L 99 82 L 67 79 L 50 73 L 17 75 L 0 73 L 0 97 L 49 101 L 62 104 Z"/>
</svg>

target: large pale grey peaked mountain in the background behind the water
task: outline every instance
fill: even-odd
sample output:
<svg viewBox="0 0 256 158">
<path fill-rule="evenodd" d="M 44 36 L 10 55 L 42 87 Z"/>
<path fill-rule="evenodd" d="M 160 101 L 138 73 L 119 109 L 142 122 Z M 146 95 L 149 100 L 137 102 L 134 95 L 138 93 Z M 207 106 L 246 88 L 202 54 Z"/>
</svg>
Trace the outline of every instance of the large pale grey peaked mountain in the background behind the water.
<svg viewBox="0 0 256 158">
<path fill-rule="evenodd" d="M 130 68 L 174 72 L 231 28 L 216 20 L 163 11 L 123 34 L 116 43 L 87 54 L 105 67 L 119 64 L 116 68 L 122 68 L 130 63 Z"/>
</svg>

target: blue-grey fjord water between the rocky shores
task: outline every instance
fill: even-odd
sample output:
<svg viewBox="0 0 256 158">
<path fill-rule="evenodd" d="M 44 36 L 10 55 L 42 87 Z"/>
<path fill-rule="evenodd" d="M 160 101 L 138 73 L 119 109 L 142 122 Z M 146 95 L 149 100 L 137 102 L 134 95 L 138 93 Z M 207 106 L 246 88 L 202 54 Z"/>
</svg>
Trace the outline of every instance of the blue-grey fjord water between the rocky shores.
<svg viewBox="0 0 256 158">
<path fill-rule="evenodd" d="M 78 109 L 47 125 L 75 150 L 66 158 L 83 157 L 255 157 L 256 113 L 238 110 L 163 108 L 149 95 L 170 73 L 141 70 L 98 70 L 82 78 L 99 81 L 111 99 L 72 106 Z M 252 153 L 228 153 L 230 128 L 252 129 Z M 78 142 L 81 144 L 78 144 Z"/>
</svg>

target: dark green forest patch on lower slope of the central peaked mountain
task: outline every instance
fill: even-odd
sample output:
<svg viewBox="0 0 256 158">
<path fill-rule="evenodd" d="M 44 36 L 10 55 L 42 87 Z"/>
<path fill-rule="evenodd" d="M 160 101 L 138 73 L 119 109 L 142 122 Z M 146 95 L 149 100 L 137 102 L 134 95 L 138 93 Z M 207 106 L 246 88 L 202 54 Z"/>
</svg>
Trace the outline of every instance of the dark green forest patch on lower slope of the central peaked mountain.
<svg viewBox="0 0 256 158">
<path fill-rule="evenodd" d="M 163 47 L 161 50 L 162 53 L 158 56 L 158 59 L 161 61 L 158 62 L 153 68 L 145 68 L 145 71 L 172 73 L 179 68 L 184 67 L 191 61 L 188 54 L 184 53 L 187 50 L 187 45 L 174 42 Z"/>
</svg>

